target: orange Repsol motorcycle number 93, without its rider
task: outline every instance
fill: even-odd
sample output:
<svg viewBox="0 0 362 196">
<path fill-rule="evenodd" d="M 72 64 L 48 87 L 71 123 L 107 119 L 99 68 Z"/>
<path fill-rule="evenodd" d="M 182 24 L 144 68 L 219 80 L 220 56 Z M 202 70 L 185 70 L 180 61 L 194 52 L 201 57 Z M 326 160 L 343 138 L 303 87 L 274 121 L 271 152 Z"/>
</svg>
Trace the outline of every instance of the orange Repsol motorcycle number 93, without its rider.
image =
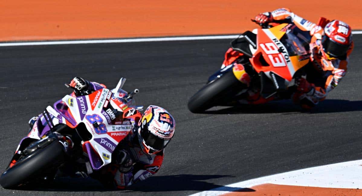
<svg viewBox="0 0 362 196">
<path fill-rule="evenodd" d="M 244 32 L 231 42 L 221 69 L 190 98 L 189 110 L 290 99 L 295 78 L 305 74 L 303 67 L 310 62 L 310 39 L 294 24 Z"/>
</svg>

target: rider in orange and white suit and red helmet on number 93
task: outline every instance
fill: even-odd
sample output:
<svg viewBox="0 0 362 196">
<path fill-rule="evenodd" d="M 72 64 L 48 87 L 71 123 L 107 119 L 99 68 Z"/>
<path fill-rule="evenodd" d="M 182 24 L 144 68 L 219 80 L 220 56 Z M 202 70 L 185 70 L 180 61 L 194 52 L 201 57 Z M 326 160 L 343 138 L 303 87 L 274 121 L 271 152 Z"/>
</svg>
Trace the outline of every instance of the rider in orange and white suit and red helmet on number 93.
<svg viewBox="0 0 362 196">
<path fill-rule="evenodd" d="M 306 66 L 307 77 L 296 81 L 297 89 L 292 99 L 303 108 L 311 108 L 323 101 L 327 94 L 334 89 L 345 76 L 349 55 L 353 50 L 352 32 L 349 25 L 342 21 L 324 21 L 318 26 L 296 14 L 290 9 L 280 8 L 272 12 L 258 14 L 254 22 L 257 24 L 294 23 L 300 30 L 308 31 L 310 40 L 310 61 Z M 327 24 L 328 23 L 328 24 Z M 235 56 L 237 51 L 229 49 L 227 53 Z M 224 63 L 229 58 L 226 54 Z M 223 64 L 227 66 L 227 64 Z M 259 97 L 261 99 L 253 99 Z M 249 93 L 249 103 L 260 104 L 266 100 Z"/>
</svg>

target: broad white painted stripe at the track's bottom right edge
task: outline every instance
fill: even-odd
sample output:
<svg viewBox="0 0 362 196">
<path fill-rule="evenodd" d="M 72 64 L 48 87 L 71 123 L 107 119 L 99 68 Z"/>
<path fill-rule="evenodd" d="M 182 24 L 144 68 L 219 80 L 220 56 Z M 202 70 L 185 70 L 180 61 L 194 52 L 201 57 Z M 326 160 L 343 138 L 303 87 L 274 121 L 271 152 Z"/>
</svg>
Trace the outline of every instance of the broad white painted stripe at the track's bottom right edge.
<svg viewBox="0 0 362 196">
<path fill-rule="evenodd" d="M 216 196 L 241 188 L 272 183 L 326 188 L 362 188 L 362 160 L 311 167 L 229 184 L 223 187 L 195 193 L 192 196 Z"/>
</svg>

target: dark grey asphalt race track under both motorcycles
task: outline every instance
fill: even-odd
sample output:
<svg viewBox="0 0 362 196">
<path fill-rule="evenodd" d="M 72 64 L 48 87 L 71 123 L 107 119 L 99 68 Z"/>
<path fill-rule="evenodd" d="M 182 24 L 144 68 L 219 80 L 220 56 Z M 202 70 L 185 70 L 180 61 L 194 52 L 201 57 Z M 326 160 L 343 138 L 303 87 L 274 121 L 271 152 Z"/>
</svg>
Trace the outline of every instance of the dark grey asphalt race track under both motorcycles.
<svg viewBox="0 0 362 196">
<path fill-rule="evenodd" d="M 187 102 L 220 67 L 230 40 L 16 46 L 0 48 L 1 172 L 29 129 L 28 120 L 70 89 L 75 76 L 138 88 L 139 105 L 166 108 L 176 134 L 164 164 L 123 191 L 92 179 L 61 178 L 51 187 L 0 189 L 0 195 L 189 195 L 222 185 L 324 164 L 362 159 L 362 36 L 349 70 L 310 112 L 291 101 L 193 114 Z M 84 193 L 86 192 L 86 193 Z"/>
</svg>

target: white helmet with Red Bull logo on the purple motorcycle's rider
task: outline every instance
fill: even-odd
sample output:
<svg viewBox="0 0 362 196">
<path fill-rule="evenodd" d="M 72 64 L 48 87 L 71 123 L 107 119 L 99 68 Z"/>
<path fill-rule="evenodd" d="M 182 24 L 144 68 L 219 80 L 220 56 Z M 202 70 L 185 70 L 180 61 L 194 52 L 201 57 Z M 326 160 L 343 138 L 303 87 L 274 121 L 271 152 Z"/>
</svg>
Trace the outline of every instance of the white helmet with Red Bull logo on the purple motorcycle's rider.
<svg viewBox="0 0 362 196">
<path fill-rule="evenodd" d="M 175 130 L 175 121 L 165 109 L 150 105 L 138 123 L 138 140 L 146 154 L 155 154 L 163 150 L 171 141 Z"/>
</svg>

